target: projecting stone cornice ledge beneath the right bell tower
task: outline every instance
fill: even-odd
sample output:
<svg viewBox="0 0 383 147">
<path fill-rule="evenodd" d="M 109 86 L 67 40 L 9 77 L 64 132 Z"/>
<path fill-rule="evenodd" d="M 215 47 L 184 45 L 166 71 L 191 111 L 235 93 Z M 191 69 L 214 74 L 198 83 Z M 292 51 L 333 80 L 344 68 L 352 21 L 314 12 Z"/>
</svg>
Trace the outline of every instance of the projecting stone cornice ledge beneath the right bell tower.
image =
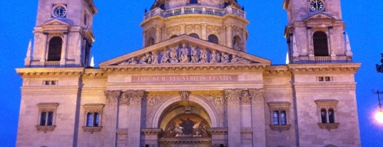
<svg viewBox="0 0 383 147">
<path fill-rule="evenodd" d="M 355 74 L 360 63 L 345 64 L 288 64 L 292 74 Z"/>
</svg>

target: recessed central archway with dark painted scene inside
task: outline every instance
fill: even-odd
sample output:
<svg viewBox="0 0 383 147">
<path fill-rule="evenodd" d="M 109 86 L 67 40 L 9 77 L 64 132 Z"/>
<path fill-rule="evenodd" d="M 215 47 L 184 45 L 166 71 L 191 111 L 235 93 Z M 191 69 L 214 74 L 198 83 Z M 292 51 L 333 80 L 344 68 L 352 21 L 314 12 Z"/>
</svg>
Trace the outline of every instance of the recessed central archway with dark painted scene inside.
<svg viewBox="0 0 383 147">
<path fill-rule="evenodd" d="M 163 133 L 160 146 L 211 146 L 212 124 L 202 106 L 193 101 L 178 101 L 165 108 L 158 122 Z"/>
</svg>

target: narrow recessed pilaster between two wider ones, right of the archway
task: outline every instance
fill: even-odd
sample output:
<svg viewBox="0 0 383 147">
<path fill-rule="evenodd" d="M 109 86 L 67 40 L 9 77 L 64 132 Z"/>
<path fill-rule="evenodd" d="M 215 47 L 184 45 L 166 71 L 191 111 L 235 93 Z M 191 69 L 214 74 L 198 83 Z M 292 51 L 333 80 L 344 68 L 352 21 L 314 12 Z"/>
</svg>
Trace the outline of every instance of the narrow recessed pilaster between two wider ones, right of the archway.
<svg viewBox="0 0 383 147">
<path fill-rule="evenodd" d="M 249 91 L 242 91 L 240 97 L 240 116 L 241 116 L 241 146 L 252 147 L 252 97 Z"/>
</svg>

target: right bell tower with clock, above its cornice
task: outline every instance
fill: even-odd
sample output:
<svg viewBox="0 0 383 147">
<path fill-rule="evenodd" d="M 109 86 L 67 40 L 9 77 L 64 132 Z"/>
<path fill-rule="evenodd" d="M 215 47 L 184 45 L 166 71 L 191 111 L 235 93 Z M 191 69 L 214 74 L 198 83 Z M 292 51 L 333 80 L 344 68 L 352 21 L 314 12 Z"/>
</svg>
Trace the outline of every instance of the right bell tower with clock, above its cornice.
<svg viewBox="0 0 383 147">
<path fill-rule="evenodd" d="M 352 61 L 340 1 L 285 0 L 283 8 L 290 64 Z"/>
</svg>

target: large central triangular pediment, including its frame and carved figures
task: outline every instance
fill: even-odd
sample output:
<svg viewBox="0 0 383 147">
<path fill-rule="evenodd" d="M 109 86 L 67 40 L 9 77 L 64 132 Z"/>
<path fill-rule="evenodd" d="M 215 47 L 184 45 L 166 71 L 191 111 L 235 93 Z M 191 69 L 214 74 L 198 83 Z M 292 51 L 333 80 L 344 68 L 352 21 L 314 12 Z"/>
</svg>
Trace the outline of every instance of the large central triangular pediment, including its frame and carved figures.
<svg viewBox="0 0 383 147">
<path fill-rule="evenodd" d="M 267 64 L 271 61 L 227 46 L 181 35 L 102 62 L 106 66 Z"/>
</svg>

